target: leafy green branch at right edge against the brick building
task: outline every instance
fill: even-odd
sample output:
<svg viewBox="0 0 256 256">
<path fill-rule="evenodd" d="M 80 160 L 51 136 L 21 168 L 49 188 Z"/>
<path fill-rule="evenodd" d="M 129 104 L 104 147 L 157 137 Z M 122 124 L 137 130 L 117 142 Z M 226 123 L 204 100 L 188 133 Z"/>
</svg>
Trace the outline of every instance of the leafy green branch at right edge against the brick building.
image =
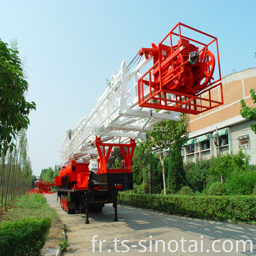
<svg viewBox="0 0 256 256">
<path fill-rule="evenodd" d="M 256 104 L 256 91 L 254 89 L 250 89 L 251 98 L 254 104 Z M 256 107 L 248 107 L 245 104 L 244 99 L 240 101 L 241 103 L 241 109 L 240 109 L 240 115 L 246 118 L 247 120 L 252 120 L 256 122 Z M 252 131 L 256 134 L 256 124 L 250 125 L 252 128 Z"/>
</svg>

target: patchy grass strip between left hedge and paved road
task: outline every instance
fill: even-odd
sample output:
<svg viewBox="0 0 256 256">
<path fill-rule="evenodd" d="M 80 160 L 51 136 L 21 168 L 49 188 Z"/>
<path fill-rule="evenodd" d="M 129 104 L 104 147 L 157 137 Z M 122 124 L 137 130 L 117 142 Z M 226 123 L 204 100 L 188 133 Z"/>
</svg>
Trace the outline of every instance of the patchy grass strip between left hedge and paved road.
<svg viewBox="0 0 256 256">
<path fill-rule="evenodd" d="M 40 194 L 26 194 L 11 202 L 8 207 L 0 210 L 0 221 L 20 220 L 25 217 L 45 217 L 49 216 L 52 220 L 52 227 L 47 238 L 46 247 L 58 248 L 58 243 L 61 242 L 62 224 L 55 210 L 50 208 L 46 203 L 44 196 Z M 1 225 L 1 224 L 0 224 Z"/>
</svg>

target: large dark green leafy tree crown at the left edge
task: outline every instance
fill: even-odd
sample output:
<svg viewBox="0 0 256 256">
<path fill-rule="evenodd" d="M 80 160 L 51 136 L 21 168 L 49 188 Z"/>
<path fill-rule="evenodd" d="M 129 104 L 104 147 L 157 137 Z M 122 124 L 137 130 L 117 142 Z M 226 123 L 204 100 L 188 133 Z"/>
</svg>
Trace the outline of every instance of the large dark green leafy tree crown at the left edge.
<svg viewBox="0 0 256 256">
<path fill-rule="evenodd" d="M 36 109 L 35 102 L 27 102 L 25 93 L 28 82 L 22 74 L 22 64 L 17 47 L 9 49 L 0 39 L 0 155 L 12 152 L 21 129 L 28 129 L 30 110 Z"/>
</svg>

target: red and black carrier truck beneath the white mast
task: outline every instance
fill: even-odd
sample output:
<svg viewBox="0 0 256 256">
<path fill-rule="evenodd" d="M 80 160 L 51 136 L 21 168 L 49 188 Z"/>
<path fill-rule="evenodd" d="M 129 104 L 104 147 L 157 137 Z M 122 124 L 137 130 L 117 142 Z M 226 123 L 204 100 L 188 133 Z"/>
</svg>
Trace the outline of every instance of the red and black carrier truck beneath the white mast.
<svg viewBox="0 0 256 256">
<path fill-rule="evenodd" d="M 70 161 L 55 178 L 62 209 L 68 214 L 85 210 L 86 223 L 89 223 L 89 209 L 100 212 L 105 203 L 113 203 L 114 220 L 118 220 L 118 191 L 133 189 L 132 156 L 135 140 L 131 139 L 129 144 L 103 143 L 96 136 L 95 146 L 99 154 L 96 170 L 90 170 L 89 163 Z M 107 168 L 113 147 L 119 147 L 124 157 L 120 169 Z"/>
</svg>

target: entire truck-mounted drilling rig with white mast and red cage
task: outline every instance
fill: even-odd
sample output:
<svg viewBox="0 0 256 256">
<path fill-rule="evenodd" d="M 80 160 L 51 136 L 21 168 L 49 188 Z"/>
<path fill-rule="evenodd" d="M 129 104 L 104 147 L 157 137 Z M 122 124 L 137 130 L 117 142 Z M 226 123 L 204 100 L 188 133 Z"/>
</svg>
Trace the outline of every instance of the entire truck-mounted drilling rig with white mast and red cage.
<svg viewBox="0 0 256 256">
<path fill-rule="evenodd" d="M 62 209 L 85 212 L 89 223 L 89 209 L 113 203 L 117 221 L 118 191 L 133 189 L 135 140 L 145 141 L 162 120 L 179 121 L 180 112 L 197 115 L 222 104 L 217 38 L 177 23 L 129 65 L 123 60 L 96 107 L 66 130 L 55 179 Z M 123 155 L 119 169 L 107 168 L 114 148 Z"/>
</svg>

